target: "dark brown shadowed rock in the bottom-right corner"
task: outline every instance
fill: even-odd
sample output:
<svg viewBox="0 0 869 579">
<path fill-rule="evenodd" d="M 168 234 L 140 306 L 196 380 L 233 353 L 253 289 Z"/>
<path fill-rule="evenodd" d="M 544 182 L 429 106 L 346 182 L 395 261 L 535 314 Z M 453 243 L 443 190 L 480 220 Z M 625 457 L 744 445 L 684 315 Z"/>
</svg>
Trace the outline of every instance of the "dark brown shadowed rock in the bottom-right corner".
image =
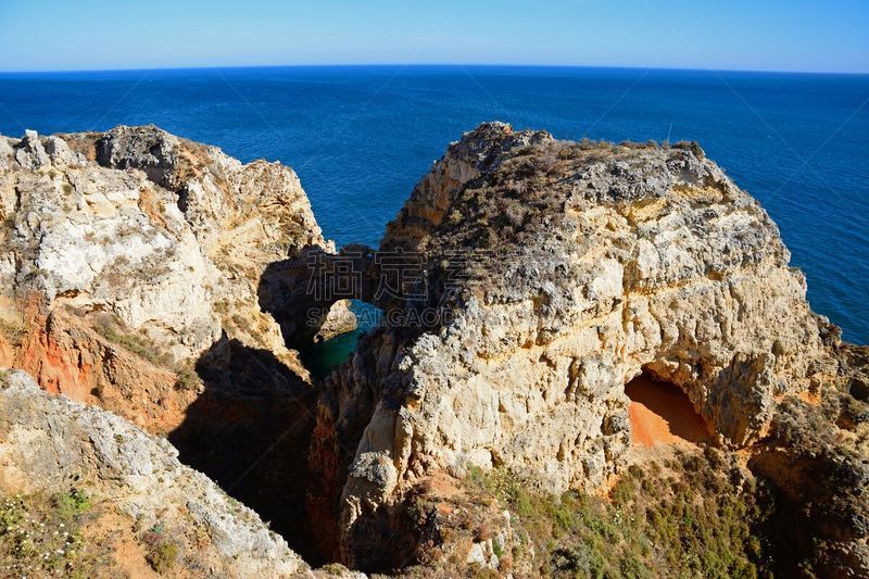
<svg viewBox="0 0 869 579">
<path fill-rule="evenodd" d="M 820 408 L 785 401 L 747 466 L 773 490 L 776 575 L 869 576 L 869 463 L 837 441 Z"/>
</svg>

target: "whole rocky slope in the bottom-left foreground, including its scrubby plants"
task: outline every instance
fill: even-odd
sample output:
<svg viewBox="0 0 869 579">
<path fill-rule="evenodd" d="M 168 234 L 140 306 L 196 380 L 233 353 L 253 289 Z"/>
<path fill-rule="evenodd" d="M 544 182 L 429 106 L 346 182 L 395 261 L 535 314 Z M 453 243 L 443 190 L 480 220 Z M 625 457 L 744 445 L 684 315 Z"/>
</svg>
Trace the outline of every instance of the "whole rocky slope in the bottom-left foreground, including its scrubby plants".
<svg viewBox="0 0 869 579">
<path fill-rule="evenodd" d="M 256 514 L 182 466 L 177 454 L 164 439 L 114 414 L 41 391 L 21 370 L 3 370 L 0 493 L 5 516 L 0 533 L 20 527 L 34 549 L 28 568 L 7 568 L 3 575 L 45 577 L 56 570 L 78 576 L 92 564 L 89 556 L 98 543 L 109 553 L 90 569 L 100 576 L 148 577 L 160 570 L 177 577 L 289 577 L 310 571 Z M 43 494 L 71 492 L 75 501 L 52 504 L 73 511 L 58 528 L 34 525 L 35 530 L 25 531 L 34 521 L 11 517 L 13 505 L 22 508 Z M 72 523 L 78 515 L 88 520 L 76 532 Z M 60 557 L 56 552 L 43 556 L 39 547 L 58 529 L 74 538 L 56 550 Z"/>
</svg>

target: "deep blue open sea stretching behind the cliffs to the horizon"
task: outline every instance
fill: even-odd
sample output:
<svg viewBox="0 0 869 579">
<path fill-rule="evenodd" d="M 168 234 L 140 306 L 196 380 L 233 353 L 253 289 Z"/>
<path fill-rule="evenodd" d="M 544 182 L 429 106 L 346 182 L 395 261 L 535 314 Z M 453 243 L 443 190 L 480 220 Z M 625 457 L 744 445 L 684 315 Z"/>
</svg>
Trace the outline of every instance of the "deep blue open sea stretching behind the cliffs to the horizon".
<svg viewBox="0 0 869 579">
<path fill-rule="evenodd" d="M 697 140 L 779 224 L 814 309 L 869 343 L 869 76 L 363 66 L 0 74 L 0 133 L 156 124 L 299 173 L 326 236 L 376 244 L 483 121 Z"/>
</svg>

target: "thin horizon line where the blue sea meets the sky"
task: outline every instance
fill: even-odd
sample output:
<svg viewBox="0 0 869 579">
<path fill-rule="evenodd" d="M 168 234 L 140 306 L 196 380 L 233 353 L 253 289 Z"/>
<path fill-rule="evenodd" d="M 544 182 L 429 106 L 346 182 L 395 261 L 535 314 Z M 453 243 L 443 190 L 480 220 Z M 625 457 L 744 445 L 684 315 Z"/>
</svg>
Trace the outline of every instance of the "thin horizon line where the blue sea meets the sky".
<svg viewBox="0 0 869 579">
<path fill-rule="evenodd" d="M 61 70 L 30 70 L 30 71 L 0 71 L 0 75 L 40 75 L 40 74 L 87 74 L 87 73 L 136 73 L 136 72 L 174 72 L 174 71 L 219 71 L 219 70 L 256 70 L 256 68 L 423 68 L 423 67 L 511 67 L 511 68 L 595 68 L 595 70 L 626 70 L 626 71 L 681 71 L 707 73 L 755 73 L 755 74 L 782 74 L 782 75 L 826 75 L 826 76 L 869 76 L 866 72 L 845 71 L 781 71 L 769 68 L 696 68 L 691 66 L 639 66 L 639 65 L 602 65 L 602 64 L 509 64 L 509 63 L 330 63 L 330 64 L 240 64 L 240 65 L 202 65 L 202 66 L 153 66 L 131 68 L 61 68 Z"/>
</svg>

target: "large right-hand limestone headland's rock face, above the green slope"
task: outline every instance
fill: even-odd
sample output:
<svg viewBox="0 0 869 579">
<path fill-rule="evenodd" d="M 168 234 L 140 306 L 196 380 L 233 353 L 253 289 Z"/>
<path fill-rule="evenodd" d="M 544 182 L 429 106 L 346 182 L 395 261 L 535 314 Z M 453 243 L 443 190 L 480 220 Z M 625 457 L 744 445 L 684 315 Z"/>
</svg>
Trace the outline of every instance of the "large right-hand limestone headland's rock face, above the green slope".
<svg viewBox="0 0 869 579">
<path fill-rule="evenodd" d="M 624 464 L 624 387 L 642 370 L 682 388 L 728 448 L 837 372 L 776 225 L 698 148 L 482 125 L 434 164 L 380 250 L 429 266 L 425 299 L 379 305 L 438 315 L 367 337 L 320 399 L 310 504 L 339 513 L 336 549 L 363 568 L 413 551 L 390 529 L 434 473 L 600 487 Z M 378 543 L 400 554 L 377 556 Z"/>
</svg>

